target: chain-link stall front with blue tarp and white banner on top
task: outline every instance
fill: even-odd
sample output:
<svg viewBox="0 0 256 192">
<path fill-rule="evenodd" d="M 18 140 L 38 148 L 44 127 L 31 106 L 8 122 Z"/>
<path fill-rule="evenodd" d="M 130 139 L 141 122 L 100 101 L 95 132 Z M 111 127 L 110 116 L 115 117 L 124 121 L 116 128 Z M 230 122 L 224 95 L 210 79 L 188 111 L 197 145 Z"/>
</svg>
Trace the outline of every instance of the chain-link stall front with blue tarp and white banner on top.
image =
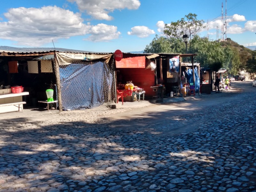
<svg viewBox="0 0 256 192">
<path fill-rule="evenodd" d="M 94 108 L 114 100 L 113 63 L 107 63 L 112 55 L 56 52 L 61 108 Z"/>
</svg>

